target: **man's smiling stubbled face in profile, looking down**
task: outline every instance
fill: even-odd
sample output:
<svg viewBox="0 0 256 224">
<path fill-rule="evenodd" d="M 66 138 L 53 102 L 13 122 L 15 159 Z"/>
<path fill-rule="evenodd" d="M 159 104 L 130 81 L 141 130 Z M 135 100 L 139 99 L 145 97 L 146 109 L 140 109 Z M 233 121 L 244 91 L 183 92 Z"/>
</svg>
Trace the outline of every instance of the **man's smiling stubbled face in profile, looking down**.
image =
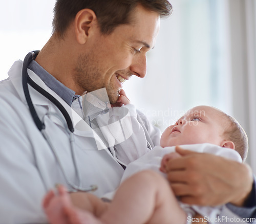
<svg viewBox="0 0 256 224">
<path fill-rule="evenodd" d="M 146 75 L 146 53 L 154 47 L 159 26 L 159 15 L 139 5 L 130 24 L 118 26 L 109 35 L 98 29 L 88 43 L 89 53 L 78 59 L 76 83 L 88 92 L 105 87 L 115 103 L 126 80 Z"/>
</svg>

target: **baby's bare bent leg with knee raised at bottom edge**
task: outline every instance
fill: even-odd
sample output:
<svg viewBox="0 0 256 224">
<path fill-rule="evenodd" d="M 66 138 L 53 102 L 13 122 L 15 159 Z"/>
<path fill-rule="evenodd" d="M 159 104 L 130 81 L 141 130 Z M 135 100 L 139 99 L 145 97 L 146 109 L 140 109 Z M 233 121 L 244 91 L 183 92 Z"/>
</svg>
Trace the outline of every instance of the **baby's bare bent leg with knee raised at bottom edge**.
<svg viewBox="0 0 256 224">
<path fill-rule="evenodd" d="M 182 224 L 186 219 L 168 182 L 150 170 L 124 181 L 109 209 L 100 217 L 106 224 Z"/>
</svg>

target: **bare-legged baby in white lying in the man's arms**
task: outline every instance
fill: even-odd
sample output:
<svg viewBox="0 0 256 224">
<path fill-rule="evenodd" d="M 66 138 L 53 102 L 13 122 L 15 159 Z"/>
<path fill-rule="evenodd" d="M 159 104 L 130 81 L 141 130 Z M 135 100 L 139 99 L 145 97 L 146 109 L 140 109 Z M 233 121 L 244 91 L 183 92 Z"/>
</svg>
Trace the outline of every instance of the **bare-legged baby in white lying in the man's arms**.
<svg viewBox="0 0 256 224">
<path fill-rule="evenodd" d="M 93 194 L 83 193 L 81 210 L 72 205 L 64 187 L 58 187 L 58 195 L 50 191 L 43 202 L 50 223 L 176 224 L 190 222 L 188 217 L 193 217 L 194 211 L 208 217 L 216 216 L 220 207 L 180 203 L 163 176 L 165 166 L 168 160 L 180 156 L 175 153 L 177 145 L 238 162 L 244 161 L 248 141 L 240 124 L 219 109 L 197 106 L 166 128 L 160 145 L 127 166 L 111 203 L 103 202 Z"/>
</svg>

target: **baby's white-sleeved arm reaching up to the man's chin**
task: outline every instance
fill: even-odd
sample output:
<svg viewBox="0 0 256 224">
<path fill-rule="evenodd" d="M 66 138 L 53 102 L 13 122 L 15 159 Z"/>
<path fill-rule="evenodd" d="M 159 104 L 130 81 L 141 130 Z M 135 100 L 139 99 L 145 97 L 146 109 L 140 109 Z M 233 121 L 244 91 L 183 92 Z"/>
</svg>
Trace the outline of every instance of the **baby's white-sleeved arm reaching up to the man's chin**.
<svg viewBox="0 0 256 224">
<path fill-rule="evenodd" d="M 145 131 L 138 122 L 137 110 L 124 90 L 120 91 L 117 104 L 110 109 L 109 133 L 114 137 L 114 151 L 118 162 L 127 165 L 149 151 Z M 113 106 L 113 105 L 112 105 Z M 114 125 L 119 125 L 118 128 Z M 131 150 L 131 148 L 133 150 Z"/>
</svg>

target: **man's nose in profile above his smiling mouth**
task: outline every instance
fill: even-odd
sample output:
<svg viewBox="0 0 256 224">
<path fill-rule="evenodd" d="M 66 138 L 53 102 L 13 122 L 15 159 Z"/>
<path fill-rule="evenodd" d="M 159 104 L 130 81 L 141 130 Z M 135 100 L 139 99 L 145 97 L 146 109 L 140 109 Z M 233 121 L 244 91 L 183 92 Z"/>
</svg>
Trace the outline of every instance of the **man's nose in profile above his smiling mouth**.
<svg viewBox="0 0 256 224">
<path fill-rule="evenodd" d="M 130 70 L 133 75 L 144 78 L 146 76 L 146 55 L 138 55 L 138 57 L 134 57 Z"/>
</svg>

